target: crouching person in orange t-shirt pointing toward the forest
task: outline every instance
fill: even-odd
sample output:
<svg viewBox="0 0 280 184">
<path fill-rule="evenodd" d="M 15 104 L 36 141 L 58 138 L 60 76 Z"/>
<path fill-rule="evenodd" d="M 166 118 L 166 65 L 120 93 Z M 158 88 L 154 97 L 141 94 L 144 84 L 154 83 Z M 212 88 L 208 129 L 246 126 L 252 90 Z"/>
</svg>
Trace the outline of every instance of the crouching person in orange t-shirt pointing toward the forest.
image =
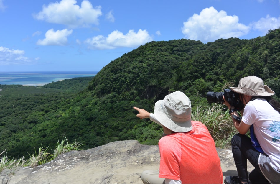
<svg viewBox="0 0 280 184">
<path fill-rule="evenodd" d="M 191 102 L 176 91 L 155 103 L 154 114 L 134 107 L 140 119 L 150 118 L 163 127 L 159 140 L 159 170 L 141 174 L 143 183 L 223 183 L 215 143 L 208 129 L 191 120 Z"/>
</svg>

